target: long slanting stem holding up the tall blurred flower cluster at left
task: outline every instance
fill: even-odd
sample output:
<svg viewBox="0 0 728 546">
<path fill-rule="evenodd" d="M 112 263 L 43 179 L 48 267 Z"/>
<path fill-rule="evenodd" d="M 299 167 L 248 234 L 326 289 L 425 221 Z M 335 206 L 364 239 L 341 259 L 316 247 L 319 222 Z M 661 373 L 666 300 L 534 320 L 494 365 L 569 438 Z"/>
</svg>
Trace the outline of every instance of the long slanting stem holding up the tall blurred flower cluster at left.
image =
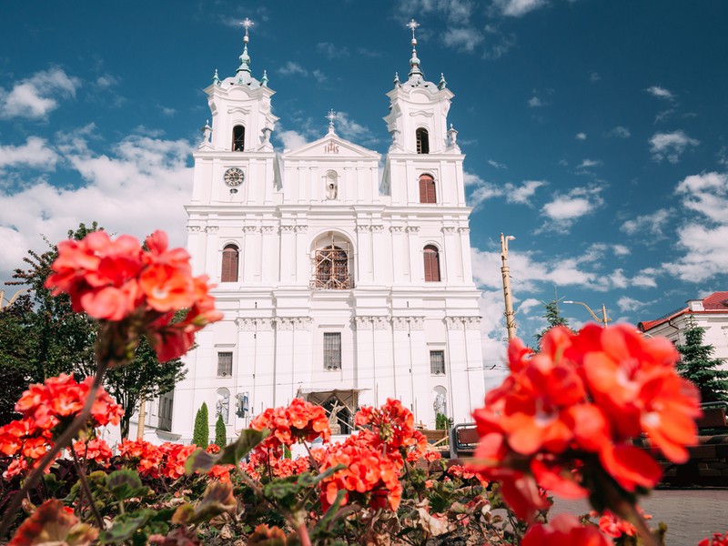
<svg viewBox="0 0 728 546">
<path fill-rule="evenodd" d="M 15 493 L 13 500 L 10 501 L 7 510 L 5 511 L 3 521 L 0 523 L 0 538 L 5 536 L 10 525 L 12 525 L 13 521 L 15 521 L 15 514 L 20 509 L 23 499 L 28 492 L 35 488 L 38 484 L 40 479 L 43 477 L 45 469 L 53 464 L 58 453 L 68 447 L 71 444 L 71 441 L 76 438 L 78 431 L 86 426 L 86 421 L 88 420 L 88 416 L 91 415 L 91 407 L 94 405 L 96 393 L 101 387 L 101 382 L 104 379 L 107 367 L 108 362 L 106 359 L 99 359 L 98 364 L 96 365 L 96 377 L 94 378 L 94 383 L 91 385 L 91 388 L 88 389 L 88 398 L 86 398 L 84 409 L 81 410 L 81 413 L 76 416 L 76 419 L 68 425 L 68 428 L 64 430 L 63 434 L 58 437 L 54 446 L 45 453 L 45 457 L 40 461 L 35 470 L 33 470 L 27 477 L 23 487 Z"/>
</svg>

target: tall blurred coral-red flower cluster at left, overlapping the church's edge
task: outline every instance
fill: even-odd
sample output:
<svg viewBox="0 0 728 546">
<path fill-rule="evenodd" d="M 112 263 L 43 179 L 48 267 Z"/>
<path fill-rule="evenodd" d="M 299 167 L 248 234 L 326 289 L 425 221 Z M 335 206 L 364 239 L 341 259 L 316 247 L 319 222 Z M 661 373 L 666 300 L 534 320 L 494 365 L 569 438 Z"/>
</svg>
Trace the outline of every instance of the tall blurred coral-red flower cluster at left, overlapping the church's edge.
<svg viewBox="0 0 728 546">
<path fill-rule="evenodd" d="M 129 331 L 146 333 L 158 358 L 167 361 L 185 354 L 195 332 L 222 314 L 208 294 L 207 277 L 192 276 L 186 250 L 168 249 L 162 231 L 146 245 L 129 236 L 112 240 L 105 231 L 62 241 L 45 287 L 54 295 L 67 293 L 74 310 L 94 319 L 128 321 Z M 182 309 L 186 317 L 173 322 Z"/>
</svg>

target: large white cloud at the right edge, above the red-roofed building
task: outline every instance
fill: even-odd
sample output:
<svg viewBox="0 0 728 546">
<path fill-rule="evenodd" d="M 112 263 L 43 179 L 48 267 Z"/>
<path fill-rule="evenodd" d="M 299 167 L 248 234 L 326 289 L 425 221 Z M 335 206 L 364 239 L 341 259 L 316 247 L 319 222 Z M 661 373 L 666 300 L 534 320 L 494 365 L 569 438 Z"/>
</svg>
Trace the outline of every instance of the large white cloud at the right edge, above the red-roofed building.
<svg viewBox="0 0 728 546">
<path fill-rule="evenodd" d="M 689 217 L 677 230 L 682 257 L 662 264 L 672 275 L 703 282 L 728 270 L 728 174 L 703 173 L 685 177 L 675 190 Z"/>
</svg>

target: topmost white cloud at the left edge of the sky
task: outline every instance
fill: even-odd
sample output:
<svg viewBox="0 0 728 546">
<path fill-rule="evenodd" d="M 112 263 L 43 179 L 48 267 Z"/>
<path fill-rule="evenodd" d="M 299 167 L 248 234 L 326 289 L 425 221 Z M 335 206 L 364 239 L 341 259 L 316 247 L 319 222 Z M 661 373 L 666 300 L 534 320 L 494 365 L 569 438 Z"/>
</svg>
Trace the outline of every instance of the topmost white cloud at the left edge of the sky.
<svg viewBox="0 0 728 546">
<path fill-rule="evenodd" d="M 76 96 L 78 78 L 53 67 L 16 82 L 10 91 L 0 88 L 0 117 L 45 119 L 62 98 Z"/>
</svg>

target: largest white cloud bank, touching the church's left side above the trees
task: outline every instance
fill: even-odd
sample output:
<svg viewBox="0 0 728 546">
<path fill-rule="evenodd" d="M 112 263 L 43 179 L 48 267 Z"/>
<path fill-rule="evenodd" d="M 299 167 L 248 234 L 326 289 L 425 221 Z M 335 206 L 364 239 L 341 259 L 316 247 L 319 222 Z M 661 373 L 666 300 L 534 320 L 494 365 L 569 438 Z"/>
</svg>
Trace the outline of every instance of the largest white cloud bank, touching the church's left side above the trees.
<svg viewBox="0 0 728 546">
<path fill-rule="evenodd" d="M 183 206 L 191 195 L 191 143 L 132 135 L 115 143 L 112 155 L 93 153 L 80 143 L 64 149 L 64 162 L 83 177 L 79 187 L 27 180 L 33 184 L 15 193 L 0 190 L 0 278 L 22 265 L 28 248 L 45 250 L 40 234 L 60 240 L 82 221 L 97 220 L 111 232 L 137 238 L 161 228 L 172 244 L 185 244 Z"/>
</svg>

